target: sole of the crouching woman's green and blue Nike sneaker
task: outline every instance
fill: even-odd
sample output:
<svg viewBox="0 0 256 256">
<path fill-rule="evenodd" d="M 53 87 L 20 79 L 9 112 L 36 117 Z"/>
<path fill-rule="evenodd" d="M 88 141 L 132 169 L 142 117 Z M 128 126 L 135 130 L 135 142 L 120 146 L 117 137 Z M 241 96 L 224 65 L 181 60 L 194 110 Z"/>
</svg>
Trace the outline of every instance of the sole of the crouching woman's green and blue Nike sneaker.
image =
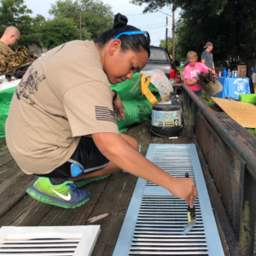
<svg viewBox="0 0 256 256">
<path fill-rule="evenodd" d="M 56 207 L 62 207 L 62 208 L 67 208 L 67 209 L 80 207 L 80 206 L 84 205 L 87 201 L 90 200 L 90 197 L 89 197 L 88 199 L 86 199 L 86 200 L 84 200 L 84 201 L 82 201 L 82 202 L 80 202 L 80 203 L 78 203 L 74 206 L 68 206 L 68 205 L 65 205 L 65 204 L 61 204 L 61 202 L 54 201 L 52 198 L 48 197 L 47 195 L 40 195 L 31 188 L 26 189 L 26 193 L 28 195 L 30 195 L 35 200 L 42 201 L 46 204 L 53 205 L 53 206 L 56 206 Z M 90 193 L 89 193 L 89 195 L 90 195 Z"/>
</svg>

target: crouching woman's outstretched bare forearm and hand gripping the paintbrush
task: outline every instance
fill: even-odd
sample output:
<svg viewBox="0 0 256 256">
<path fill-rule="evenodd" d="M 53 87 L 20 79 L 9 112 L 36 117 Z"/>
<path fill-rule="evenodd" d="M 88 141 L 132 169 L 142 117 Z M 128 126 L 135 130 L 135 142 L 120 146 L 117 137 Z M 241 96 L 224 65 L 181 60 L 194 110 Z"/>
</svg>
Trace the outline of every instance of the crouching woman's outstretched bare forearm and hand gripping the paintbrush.
<svg viewBox="0 0 256 256">
<path fill-rule="evenodd" d="M 184 199 L 193 207 L 197 190 L 192 178 L 173 177 L 139 154 L 119 134 L 103 132 L 92 134 L 91 137 L 102 154 L 120 169 L 168 189 L 172 195 Z"/>
</svg>

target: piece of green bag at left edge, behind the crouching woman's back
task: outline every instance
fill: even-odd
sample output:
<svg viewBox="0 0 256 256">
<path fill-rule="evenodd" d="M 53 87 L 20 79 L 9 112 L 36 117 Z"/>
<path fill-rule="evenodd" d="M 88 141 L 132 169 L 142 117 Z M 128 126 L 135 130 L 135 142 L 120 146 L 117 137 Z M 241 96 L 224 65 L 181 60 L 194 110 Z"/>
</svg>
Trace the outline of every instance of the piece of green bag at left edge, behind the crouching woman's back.
<svg viewBox="0 0 256 256">
<path fill-rule="evenodd" d="M 5 137 L 5 121 L 9 113 L 9 105 L 17 86 L 0 90 L 0 137 Z"/>
</svg>

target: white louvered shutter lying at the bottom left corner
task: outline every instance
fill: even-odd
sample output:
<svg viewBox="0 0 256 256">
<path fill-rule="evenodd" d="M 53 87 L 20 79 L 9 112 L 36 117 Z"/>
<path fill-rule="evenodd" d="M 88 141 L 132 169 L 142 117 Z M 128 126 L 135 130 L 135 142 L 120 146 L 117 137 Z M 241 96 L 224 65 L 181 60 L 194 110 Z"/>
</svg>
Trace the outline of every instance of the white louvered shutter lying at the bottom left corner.
<svg viewBox="0 0 256 256">
<path fill-rule="evenodd" d="M 2 227 L 0 255 L 90 256 L 100 226 Z"/>
</svg>

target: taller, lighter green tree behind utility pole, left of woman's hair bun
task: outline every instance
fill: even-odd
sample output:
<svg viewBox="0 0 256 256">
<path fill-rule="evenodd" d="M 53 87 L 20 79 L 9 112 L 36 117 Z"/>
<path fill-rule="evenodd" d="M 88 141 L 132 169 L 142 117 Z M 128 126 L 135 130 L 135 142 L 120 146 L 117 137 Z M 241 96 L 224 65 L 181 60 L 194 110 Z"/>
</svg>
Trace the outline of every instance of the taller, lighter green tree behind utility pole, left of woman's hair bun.
<svg viewBox="0 0 256 256">
<path fill-rule="evenodd" d="M 79 27 L 79 9 L 81 9 L 82 27 L 91 34 L 91 39 L 96 40 L 102 32 L 113 26 L 113 12 L 108 4 L 99 0 L 57 0 L 51 4 L 49 15 L 69 17 Z"/>
</svg>

